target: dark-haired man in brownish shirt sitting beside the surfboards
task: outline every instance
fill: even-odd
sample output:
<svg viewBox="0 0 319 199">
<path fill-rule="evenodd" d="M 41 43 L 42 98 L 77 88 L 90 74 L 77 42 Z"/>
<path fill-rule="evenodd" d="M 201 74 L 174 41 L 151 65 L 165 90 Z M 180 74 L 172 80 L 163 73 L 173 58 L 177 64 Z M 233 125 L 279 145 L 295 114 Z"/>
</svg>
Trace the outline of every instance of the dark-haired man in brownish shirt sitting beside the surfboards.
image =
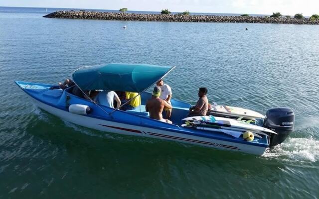
<svg viewBox="0 0 319 199">
<path fill-rule="evenodd" d="M 206 88 L 199 88 L 198 97 L 199 100 L 197 101 L 195 106 L 189 108 L 189 113 L 187 116 L 205 116 L 208 110 L 208 99 L 207 99 L 207 89 Z"/>
</svg>

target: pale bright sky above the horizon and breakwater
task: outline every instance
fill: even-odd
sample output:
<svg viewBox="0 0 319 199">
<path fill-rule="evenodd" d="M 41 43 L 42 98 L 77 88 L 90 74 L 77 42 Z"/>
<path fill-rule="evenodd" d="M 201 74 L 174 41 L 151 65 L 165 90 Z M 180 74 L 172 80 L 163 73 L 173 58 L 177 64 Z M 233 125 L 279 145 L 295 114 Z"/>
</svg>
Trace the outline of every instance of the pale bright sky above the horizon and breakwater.
<svg viewBox="0 0 319 199">
<path fill-rule="evenodd" d="M 172 12 L 319 14 L 319 0 L 0 0 L 0 6 L 58 7 Z"/>
</svg>

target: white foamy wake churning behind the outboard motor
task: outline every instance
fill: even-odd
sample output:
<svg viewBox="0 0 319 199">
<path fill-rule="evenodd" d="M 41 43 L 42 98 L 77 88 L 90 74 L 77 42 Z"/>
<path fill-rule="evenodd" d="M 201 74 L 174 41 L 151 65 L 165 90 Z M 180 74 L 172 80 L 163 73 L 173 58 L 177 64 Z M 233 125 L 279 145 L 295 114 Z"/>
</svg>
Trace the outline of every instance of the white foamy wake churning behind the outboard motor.
<svg viewBox="0 0 319 199">
<path fill-rule="evenodd" d="M 268 150 L 268 158 L 317 162 L 319 160 L 319 140 L 313 138 L 290 138 L 286 142 Z"/>
</svg>

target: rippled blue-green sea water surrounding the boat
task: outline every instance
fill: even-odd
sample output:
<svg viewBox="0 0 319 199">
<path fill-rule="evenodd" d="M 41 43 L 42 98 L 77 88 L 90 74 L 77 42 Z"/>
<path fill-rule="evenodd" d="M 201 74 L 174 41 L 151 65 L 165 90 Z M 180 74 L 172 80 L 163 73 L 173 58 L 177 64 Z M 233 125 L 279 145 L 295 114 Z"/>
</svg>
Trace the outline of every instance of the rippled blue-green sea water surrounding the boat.
<svg viewBox="0 0 319 199">
<path fill-rule="evenodd" d="M 319 26 L 50 19 L 37 9 L 0 12 L 0 198 L 319 197 Z M 39 110 L 13 82 L 56 84 L 107 63 L 176 66 L 164 82 L 189 103 L 207 87 L 209 102 L 291 107 L 295 131 L 261 157 L 108 134 Z"/>
</svg>

